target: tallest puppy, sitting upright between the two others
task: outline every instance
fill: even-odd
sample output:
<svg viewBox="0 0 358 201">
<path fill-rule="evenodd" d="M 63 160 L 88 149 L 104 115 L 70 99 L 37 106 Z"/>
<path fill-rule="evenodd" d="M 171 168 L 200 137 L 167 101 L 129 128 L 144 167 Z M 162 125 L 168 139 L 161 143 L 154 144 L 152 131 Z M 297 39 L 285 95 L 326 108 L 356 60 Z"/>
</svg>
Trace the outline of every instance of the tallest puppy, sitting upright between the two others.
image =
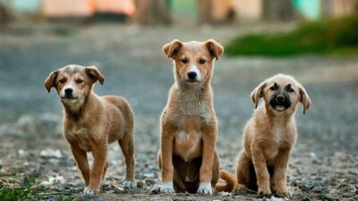
<svg viewBox="0 0 358 201">
<path fill-rule="evenodd" d="M 160 192 L 212 194 L 218 179 L 217 117 L 211 76 L 214 59 L 223 54 L 215 40 L 173 40 L 163 47 L 174 61 L 175 84 L 161 115 L 158 166 Z"/>
</svg>

